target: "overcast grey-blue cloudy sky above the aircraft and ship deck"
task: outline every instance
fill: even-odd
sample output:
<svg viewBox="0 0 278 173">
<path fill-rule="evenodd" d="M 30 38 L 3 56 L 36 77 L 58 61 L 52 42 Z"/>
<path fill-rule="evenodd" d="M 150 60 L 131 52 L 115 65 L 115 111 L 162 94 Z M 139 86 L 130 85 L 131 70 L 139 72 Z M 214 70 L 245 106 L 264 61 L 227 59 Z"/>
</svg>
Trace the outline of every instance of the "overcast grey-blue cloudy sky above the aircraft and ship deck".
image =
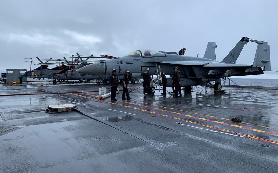
<svg viewBox="0 0 278 173">
<path fill-rule="evenodd" d="M 1 0 L 0 72 L 30 70 L 24 58 L 64 54 L 123 56 L 136 49 L 203 57 L 208 41 L 222 59 L 242 37 L 270 44 L 278 70 L 278 1 Z M 252 64 L 257 44 L 244 46 L 237 62 Z M 278 78 L 267 72 L 252 78 Z"/>
</svg>

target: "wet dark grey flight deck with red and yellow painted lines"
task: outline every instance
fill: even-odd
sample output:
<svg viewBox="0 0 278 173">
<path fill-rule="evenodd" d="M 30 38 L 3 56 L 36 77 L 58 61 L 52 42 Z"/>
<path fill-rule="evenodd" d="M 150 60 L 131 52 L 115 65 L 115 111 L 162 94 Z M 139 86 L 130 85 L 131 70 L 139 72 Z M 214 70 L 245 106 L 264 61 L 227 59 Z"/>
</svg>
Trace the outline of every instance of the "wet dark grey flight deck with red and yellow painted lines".
<svg viewBox="0 0 278 173">
<path fill-rule="evenodd" d="M 277 90 L 136 90 L 115 103 L 81 92 L 99 87 L 0 84 L 0 95 L 42 93 L 0 97 L 0 172 L 278 172 Z M 79 112 L 47 114 L 50 104 Z"/>
</svg>

